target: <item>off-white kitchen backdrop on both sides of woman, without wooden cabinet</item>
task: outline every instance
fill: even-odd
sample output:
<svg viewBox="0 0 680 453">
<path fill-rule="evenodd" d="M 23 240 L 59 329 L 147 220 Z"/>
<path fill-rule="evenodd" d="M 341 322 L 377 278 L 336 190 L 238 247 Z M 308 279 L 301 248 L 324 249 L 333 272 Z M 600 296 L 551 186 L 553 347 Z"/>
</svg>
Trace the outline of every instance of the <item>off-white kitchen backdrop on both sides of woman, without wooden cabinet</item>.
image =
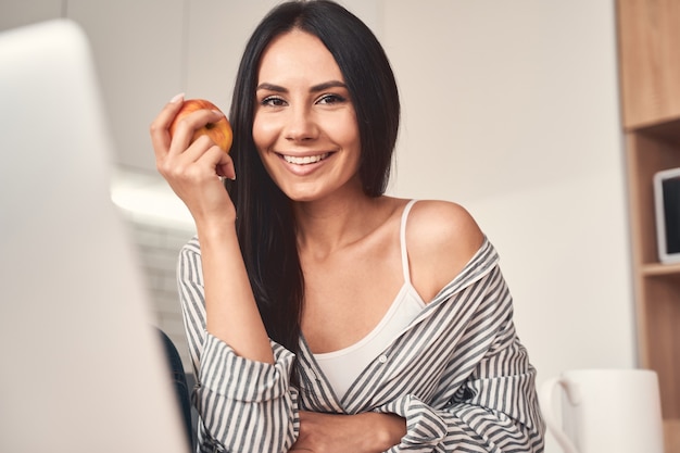
<svg viewBox="0 0 680 453">
<path fill-rule="evenodd" d="M 187 367 L 175 263 L 193 231 L 155 175 L 148 126 L 182 91 L 228 111 L 244 41 L 276 3 L 0 0 L 0 29 L 70 17 L 89 35 L 117 148 L 112 193 Z M 341 3 L 377 34 L 400 85 L 390 193 L 457 201 L 478 219 L 539 385 L 634 366 L 614 1 Z"/>
</svg>

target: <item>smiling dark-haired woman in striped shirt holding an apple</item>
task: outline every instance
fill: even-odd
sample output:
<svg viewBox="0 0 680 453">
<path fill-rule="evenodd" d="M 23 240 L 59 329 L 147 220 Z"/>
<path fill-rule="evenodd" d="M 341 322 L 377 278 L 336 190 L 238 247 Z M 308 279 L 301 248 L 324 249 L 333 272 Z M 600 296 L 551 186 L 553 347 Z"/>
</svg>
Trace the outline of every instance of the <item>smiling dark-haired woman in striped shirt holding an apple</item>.
<svg viewBox="0 0 680 453">
<path fill-rule="evenodd" d="M 358 18 L 293 1 L 262 21 L 228 155 L 190 143 L 217 112 L 171 140 L 181 101 L 151 136 L 198 231 L 178 278 L 199 451 L 542 451 L 492 246 L 457 204 L 383 194 L 399 96 Z"/>
</svg>

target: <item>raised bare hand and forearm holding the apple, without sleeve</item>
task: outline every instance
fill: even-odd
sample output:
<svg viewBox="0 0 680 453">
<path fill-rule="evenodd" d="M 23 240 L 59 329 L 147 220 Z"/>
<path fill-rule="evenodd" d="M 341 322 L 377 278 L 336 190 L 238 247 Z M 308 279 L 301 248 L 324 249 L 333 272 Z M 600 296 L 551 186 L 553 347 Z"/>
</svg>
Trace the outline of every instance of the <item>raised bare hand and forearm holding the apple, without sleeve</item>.
<svg viewBox="0 0 680 453">
<path fill-rule="evenodd" d="M 193 131 L 222 116 L 201 110 L 168 127 L 184 97 L 175 97 L 151 125 L 156 167 L 193 216 L 201 240 L 206 328 L 242 357 L 273 363 L 269 339 L 255 304 L 236 235 L 236 212 L 219 176 L 236 177 L 231 159 Z"/>
</svg>

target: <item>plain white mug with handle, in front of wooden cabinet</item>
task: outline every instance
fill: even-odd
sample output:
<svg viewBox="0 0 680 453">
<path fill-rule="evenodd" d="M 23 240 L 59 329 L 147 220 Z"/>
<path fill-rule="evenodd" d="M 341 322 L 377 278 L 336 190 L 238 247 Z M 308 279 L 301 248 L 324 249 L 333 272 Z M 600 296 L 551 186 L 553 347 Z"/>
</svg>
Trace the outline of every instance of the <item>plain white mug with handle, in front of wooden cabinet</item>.
<svg viewBox="0 0 680 453">
<path fill-rule="evenodd" d="M 558 388 L 562 417 L 553 402 Z M 664 453 L 658 378 L 652 370 L 564 372 L 543 382 L 539 400 L 565 453 Z"/>
</svg>

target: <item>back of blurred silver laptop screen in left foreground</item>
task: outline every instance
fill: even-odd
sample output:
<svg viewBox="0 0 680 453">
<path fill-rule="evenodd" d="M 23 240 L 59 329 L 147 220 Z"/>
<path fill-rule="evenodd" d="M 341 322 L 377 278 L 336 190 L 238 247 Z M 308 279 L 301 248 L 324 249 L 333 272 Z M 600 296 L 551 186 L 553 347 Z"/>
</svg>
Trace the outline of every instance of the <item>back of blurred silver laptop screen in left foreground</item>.
<svg viewBox="0 0 680 453">
<path fill-rule="evenodd" d="M 74 23 L 0 34 L 2 452 L 188 450 L 98 84 Z"/>
</svg>

